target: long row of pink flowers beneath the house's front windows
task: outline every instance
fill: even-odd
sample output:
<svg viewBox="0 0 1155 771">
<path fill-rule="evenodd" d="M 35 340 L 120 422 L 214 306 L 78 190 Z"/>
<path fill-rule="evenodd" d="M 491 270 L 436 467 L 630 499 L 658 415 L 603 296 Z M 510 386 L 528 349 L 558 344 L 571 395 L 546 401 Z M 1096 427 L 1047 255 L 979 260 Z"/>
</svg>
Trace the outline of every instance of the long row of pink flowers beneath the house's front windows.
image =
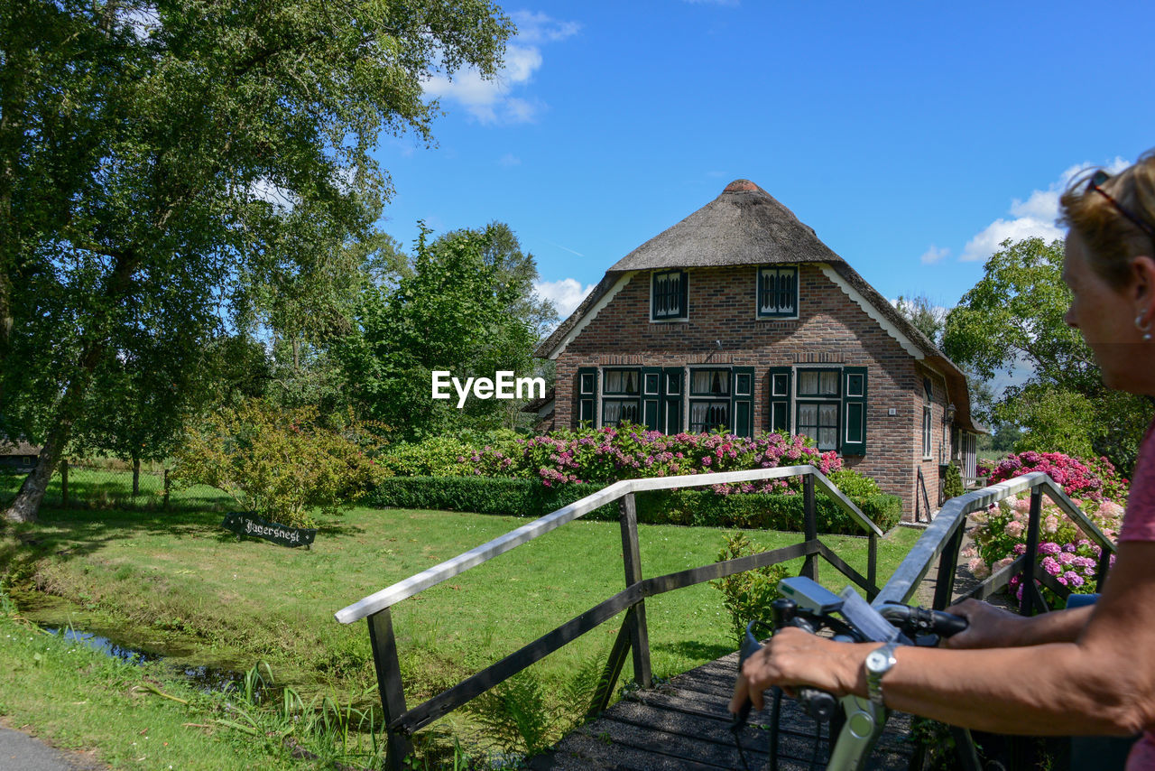
<svg viewBox="0 0 1155 771">
<path fill-rule="evenodd" d="M 824 474 L 842 468 L 834 452 L 819 452 L 803 436 L 763 433 L 665 435 L 639 427 L 554 431 L 519 439 L 513 447 L 486 446 L 469 464 L 480 476 L 537 477 L 546 487 L 568 482 L 708 474 L 810 464 Z M 788 488 L 787 480 L 716 485 L 718 492 L 762 492 Z"/>
</svg>

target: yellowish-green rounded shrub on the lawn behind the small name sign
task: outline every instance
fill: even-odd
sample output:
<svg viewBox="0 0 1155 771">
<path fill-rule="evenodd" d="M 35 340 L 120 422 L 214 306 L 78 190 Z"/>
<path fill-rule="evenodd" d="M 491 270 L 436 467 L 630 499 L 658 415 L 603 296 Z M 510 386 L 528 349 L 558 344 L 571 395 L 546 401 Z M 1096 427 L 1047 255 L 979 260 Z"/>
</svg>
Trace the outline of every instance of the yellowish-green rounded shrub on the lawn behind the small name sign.
<svg viewBox="0 0 1155 771">
<path fill-rule="evenodd" d="M 219 488 L 244 511 L 310 527 L 314 507 L 340 513 L 380 479 L 359 445 L 365 433 L 357 423 L 344 432 L 319 425 L 313 407 L 281 409 L 252 399 L 189 428 L 171 479 Z"/>
</svg>

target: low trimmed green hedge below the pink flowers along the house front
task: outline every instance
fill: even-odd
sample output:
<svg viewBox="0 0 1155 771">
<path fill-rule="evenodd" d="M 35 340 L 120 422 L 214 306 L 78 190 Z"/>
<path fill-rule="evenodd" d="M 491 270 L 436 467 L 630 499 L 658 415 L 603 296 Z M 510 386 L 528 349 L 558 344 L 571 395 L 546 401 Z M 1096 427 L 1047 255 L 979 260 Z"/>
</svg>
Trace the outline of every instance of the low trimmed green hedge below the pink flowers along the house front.
<svg viewBox="0 0 1155 771">
<path fill-rule="evenodd" d="M 363 505 L 541 517 L 599 489 L 601 484 L 547 488 L 536 480 L 487 476 L 395 476 L 381 482 L 363 499 Z M 833 501 L 821 492 L 815 494 L 814 499 L 820 533 L 863 534 L 863 529 Z M 897 496 L 878 494 L 852 497 L 851 501 L 884 532 L 897 525 L 902 516 L 902 501 Z M 608 504 L 586 514 L 586 519 L 617 518 L 617 504 Z M 638 496 L 638 521 L 653 525 L 800 531 L 803 496 L 655 490 Z"/>
</svg>

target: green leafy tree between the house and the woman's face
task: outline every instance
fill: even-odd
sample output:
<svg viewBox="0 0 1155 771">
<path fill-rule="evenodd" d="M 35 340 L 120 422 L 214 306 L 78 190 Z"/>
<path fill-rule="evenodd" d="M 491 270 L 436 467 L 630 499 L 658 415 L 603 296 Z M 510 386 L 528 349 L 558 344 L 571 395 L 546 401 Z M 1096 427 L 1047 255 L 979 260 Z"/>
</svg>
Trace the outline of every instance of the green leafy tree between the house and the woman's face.
<svg viewBox="0 0 1155 771">
<path fill-rule="evenodd" d="M 1082 335 L 1064 321 L 1063 242 L 1004 242 L 985 270 L 947 317 L 942 348 L 986 379 L 1023 364 L 1033 371 L 989 417 L 1022 428 L 1015 450 L 1105 455 L 1130 474 L 1152 406 L 1104 386 Z"/>
</svg>

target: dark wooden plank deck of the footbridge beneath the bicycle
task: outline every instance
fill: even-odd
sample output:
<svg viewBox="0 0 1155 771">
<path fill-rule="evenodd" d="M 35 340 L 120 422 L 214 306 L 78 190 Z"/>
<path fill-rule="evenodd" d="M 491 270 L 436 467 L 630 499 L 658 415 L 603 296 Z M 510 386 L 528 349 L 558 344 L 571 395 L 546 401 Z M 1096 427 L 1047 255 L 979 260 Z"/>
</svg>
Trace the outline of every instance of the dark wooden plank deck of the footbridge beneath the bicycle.
<svg viewBox="0 0 1155 771">
<path fill-rule="evenodd" d="M 726 711 L 737 666 L 738 654 L 731 653 L 653 690 L 634 691 L 562 739 L 550 753 L 532 758 L 529 768 L 535 771 L 742 769 Z M 815 724 L 793 699 L 783 698 L 782 706 L 778 768 L 808 769 Z M 740 733 L 751 771 L 766 765 L 769 734 L 761 726 L 768 722 L 768 711 L 754 712 Z M 866 768 L 906 770 L 914 749 L 903 740 L 909 729 L 910 716 L 893 714 Z M 815 768 L 822 768 L 827 756 L 825 729 L 822 736 Z"/>
</svg>

